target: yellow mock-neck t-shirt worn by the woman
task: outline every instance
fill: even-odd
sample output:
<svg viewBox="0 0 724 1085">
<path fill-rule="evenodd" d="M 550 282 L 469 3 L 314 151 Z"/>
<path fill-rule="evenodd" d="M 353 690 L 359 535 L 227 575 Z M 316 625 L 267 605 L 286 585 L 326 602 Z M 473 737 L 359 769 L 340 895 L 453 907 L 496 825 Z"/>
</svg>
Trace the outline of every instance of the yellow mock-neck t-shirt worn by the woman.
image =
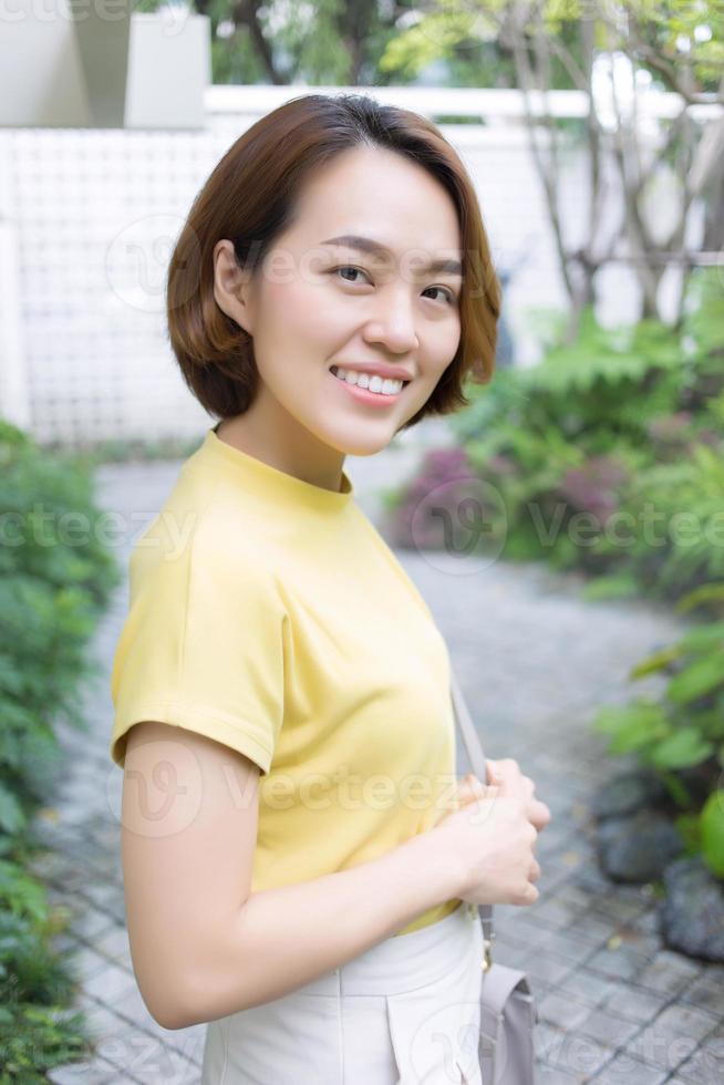
<svg viewBox="0 0 724 1085">
<path fill-rule="evenodd" d="M 451 808 L 447 648 L 353 497 L 347 473 L 333 493 L 208 430 L 131 555 L 111 756 L 157 720 L 254 761 L 252 892 L 365 862 Z"/>
</svg>

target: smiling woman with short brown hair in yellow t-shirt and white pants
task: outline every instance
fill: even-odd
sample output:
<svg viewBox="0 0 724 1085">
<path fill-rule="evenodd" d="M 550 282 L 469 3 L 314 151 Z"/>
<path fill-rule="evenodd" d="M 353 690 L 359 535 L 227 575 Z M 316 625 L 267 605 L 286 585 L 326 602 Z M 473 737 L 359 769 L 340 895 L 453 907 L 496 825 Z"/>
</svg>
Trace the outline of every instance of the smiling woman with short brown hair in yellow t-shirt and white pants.
<svg viewBox="0 0 724 1085">
<path fill-rule="evenodd" d="M 168 273 L 220 421 L 131 557 L 111 754 L 136 979 L 205 1085 L 478 1082 L 476 905 L 529 905 L 550 813 L 455 775 L 449 659 L 345 455 L 465 404 L 499 288 L 434 124 L 304 95 L 197 196 Z"/>
</svg>

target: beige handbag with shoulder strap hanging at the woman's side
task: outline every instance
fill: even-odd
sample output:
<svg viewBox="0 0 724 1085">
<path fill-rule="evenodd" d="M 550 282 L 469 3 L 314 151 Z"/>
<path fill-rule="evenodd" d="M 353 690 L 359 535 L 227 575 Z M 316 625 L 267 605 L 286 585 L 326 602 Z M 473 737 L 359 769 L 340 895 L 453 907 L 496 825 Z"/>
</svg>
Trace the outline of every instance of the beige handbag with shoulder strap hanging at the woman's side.
<svg viewBox="0 0 724 1085">
<path fill-rule="evenodd" d="M 487 766 L 483 746 L 452 669 L 451 692 L 470 768 L 485 784 Z M 534 1029 L 538 1012 L 530 984 L 525 972 L 493 962 L 493 908 L 478 905 L 478 911 L 484 947 L 478 1044 L 483 1085 L 534 1085 Z"/>
</svg>

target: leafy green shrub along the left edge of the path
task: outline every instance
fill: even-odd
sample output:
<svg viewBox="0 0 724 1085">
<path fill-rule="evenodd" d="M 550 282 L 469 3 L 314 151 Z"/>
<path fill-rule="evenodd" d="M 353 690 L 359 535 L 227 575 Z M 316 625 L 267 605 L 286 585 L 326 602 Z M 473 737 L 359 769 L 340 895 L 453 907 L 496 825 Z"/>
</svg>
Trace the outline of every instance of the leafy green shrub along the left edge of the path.
<svg viewBox="0 0 724 1085">
<path fill-rule="evenodd" d="M 101 512 L 81 461 L 49 454 L 0 422 L 0 1066 L 1 1081 L 84 1054 L 74 980 L 51 946 L 62 929 L 25 869 L 32 816 L 59 768 L 54 727 L 87 730 L 80 685 L 101 669 L 87 641 L 121 581 L 95 528 Z M 82 528 L 82 534 L 79 533 Z"/>
</svg>

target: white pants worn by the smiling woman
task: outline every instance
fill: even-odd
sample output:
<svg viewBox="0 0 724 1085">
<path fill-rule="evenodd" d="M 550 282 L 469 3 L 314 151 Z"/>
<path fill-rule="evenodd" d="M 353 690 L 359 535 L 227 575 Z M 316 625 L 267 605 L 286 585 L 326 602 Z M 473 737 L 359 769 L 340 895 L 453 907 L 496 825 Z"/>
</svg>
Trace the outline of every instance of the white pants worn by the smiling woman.
<svg viewBox="0 0 724 1085">
<path fill-rule="evenodd" d="M 201 1085 L 482 1085 L 483 930 L 463 903 L 209 1022 Z"/>
</svg>

